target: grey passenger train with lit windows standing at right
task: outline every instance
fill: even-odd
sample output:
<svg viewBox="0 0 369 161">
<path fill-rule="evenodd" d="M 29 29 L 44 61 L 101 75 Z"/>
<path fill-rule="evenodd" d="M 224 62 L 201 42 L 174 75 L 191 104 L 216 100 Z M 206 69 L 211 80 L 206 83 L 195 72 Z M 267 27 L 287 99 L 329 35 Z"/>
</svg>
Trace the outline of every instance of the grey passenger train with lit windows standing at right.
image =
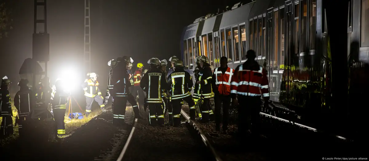
<svg viewBox="0 0 369 161">
<path fill-rule="evenodd" d="M 365 95 L 358 86 L 368 82 L 364 73 L 368 73 L 369 36 L 362 36 L 369 34 L 369 28 L 363 28 L 369 23 L 369 10 L 363 7 L 369 8 L 368 0 L 237 3 L 230 11 L 198 18 L 184 28 L 182 59 L 190 73 L 200 55 L 209 57 L 212 68 L 220 66 L 222 56 L 236 68 L 246 61 L 247 50 L 255 50 L 255 60 L 268 71 L 270 105 L 275 109 L 263 112 L 349 136 L 350 103 L 355 95 Z M 355 42 L 361 44 L 352 65 L 348 56 Z M 358 75 L 366 82 L 352 79 Z M 352 85 L 355 80 L 358 83 Z M 356 85 L 351 94 L 349 84 Z"/>
</svg>

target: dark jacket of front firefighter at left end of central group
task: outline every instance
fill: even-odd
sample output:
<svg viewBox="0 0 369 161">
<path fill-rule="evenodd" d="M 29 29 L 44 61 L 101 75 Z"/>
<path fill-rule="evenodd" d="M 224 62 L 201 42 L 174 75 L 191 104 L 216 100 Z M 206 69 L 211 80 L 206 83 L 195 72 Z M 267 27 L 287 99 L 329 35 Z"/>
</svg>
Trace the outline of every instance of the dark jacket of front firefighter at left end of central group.
<svg viewBox="0 0 369 161">
<path fill-rule="evenodd" d="M 120 66 L 119 66 L 120 65 Z M 129 75 L 127 69 L 125 69 L 124 64 L 118 64 L 114 67 L 114 74 L 111 76 L 111 81 L 113 85 L 114 97 L 127 97 L 130 90 L 128 87 L 131 86 Z"/>
</svg>

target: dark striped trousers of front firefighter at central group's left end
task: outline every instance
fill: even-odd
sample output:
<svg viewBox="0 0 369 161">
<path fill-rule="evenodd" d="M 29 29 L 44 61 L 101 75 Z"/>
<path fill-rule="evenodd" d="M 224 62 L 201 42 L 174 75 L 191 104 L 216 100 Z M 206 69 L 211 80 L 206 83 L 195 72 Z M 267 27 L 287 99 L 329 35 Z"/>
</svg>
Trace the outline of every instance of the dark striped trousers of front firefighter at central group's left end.
<svg viewBox="0 0 369 161">
<path fill-rule="evenodd" d="M 114 108 L 113 108 L 113 124 L 123 125 L 125 108 L 127 107 L 128 97 L 115 96 L 114 97 Z"/>
</svg>

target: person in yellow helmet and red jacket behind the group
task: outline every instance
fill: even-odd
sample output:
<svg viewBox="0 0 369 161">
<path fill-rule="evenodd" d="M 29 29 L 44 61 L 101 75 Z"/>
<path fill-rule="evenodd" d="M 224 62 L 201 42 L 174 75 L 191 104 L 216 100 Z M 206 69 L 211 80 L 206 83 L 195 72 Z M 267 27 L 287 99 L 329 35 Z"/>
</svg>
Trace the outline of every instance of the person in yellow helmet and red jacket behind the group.
<svg viewBox="0 0 369 161">
<path fill-rule="evenodd" d="M 137 63 L 137 71 L 135 71 L 133 75 L 133 91 L 132 95 L 136 99 L 138 95 L 138 104 L 140 107 L 144 107 L 144 100 L 145 100 L 145 94 L 144 91 L 139 87 L 139 83 L 141 82 L 142 74 L 142 68 L 144 68 L 144 64 L 141 62 Z"/>
</svg>

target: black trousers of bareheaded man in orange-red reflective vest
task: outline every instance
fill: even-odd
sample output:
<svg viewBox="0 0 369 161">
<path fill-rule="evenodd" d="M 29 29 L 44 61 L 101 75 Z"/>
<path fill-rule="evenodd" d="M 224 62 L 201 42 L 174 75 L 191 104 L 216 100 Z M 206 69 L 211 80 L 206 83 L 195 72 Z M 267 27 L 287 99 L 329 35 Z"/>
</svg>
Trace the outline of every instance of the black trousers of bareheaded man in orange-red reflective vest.
<svg viewBox="0 0 369 161">
<path fill-rule="evenodd" d="M 214 98 L 215 101 L 215 124 L 220 126 L 221 114 L 220 114 L 220 104 L 223 103 L 223 130 L 228 128 L 228 117 L 229 108 L 231 105 L 231 95 L 218 95 Z"/>
</svg>

